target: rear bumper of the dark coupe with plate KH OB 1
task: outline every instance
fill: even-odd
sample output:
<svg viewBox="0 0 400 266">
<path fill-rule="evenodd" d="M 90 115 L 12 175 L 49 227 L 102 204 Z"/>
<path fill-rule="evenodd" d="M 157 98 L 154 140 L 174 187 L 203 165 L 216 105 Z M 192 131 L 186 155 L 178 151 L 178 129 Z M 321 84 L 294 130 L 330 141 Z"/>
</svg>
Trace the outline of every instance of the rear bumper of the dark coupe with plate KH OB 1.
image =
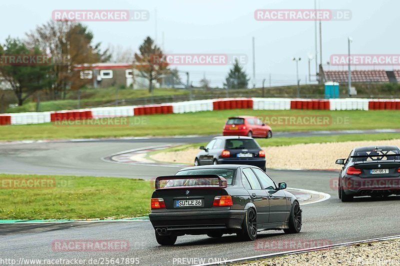
<svg viewBox="0 0 400 266">
<path fill-rule="evenodd" d="M 343 179 L 343 190 L 351 196 L 365 195 L 392 195 L 400 194 L 400 177 L 398 178 L 360 178 L 345 177 Z"/>
</svg>

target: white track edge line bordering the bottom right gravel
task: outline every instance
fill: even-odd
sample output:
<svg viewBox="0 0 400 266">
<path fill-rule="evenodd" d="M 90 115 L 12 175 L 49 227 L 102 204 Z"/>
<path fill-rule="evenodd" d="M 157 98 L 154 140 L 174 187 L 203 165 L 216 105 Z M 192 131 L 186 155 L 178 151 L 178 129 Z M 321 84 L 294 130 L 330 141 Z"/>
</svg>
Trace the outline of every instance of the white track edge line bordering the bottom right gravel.
<svg viewBox="0 0 400 266">
<path fill-rule="evenodd" d="M 400 236 L 397 235 L 397 236 L 389 236 L 389 237 L 383 237 L 383 238 L 374 238 L 374 239 L 345 242 L 345 243 L 339 243 L 339 244 L 333 244 L 333 245 L 326 245 L 326 246 L 321 246 L 321 247 L 311 248 L 311 249 L 284 251 L 284 252 L 270 253 L 270 254 L 264 254 L 264 255 L 258 255 L 258 256 L 251 256 L 251 257 L 227 260 L 224 262 L 224 264 L 234 264 L 234 263 L 241 263 L 241 262 L 248 262 L 248 261 L 256 261 L 256 260 L 268 259 L 268 258 L 272 258 L 272 257 L 281 257 L 281 256 L 287 256 L 287 255 L 293 255 L 293 254 L 307 253 L 307 252 L 312 252 L 312 251 L 326 250 L 326 249 L 330 249 L 330 248 L 351 246 L 351 245 L 360 244 L 360 243 L 370 243 L 370 242 L 393 240 L 393 239 L 400 239 Z M 208 265 L 217 265 L 217 264 L 207 263 L 207 264 L 198 264 L 196 266 L 208 266 Z"/>
</svg>

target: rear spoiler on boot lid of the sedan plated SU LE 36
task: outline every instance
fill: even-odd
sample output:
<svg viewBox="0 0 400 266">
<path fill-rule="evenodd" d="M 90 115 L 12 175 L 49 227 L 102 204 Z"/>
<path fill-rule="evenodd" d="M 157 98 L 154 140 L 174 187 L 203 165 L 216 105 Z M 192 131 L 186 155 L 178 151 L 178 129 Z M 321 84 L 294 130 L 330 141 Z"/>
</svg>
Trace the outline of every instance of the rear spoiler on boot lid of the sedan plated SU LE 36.
<svg viewBox="0 0 400 266">
<path fill-rule="evenodd" d="M 183 185 L 183 186 L 167 186 L 170 180 L 191 180 L 191 179 L 215 179 L 218 180 L 218 184 L 215 185 Z M 165 181 L 163 187 L 160 186 L 160 181 Z M 227 187 L 227 181 L 221 176 L 217 175 L 181 175 L 181 176 L 159 176 L 155 179 L 155 189 L 224 189 Z"/>
</svg>

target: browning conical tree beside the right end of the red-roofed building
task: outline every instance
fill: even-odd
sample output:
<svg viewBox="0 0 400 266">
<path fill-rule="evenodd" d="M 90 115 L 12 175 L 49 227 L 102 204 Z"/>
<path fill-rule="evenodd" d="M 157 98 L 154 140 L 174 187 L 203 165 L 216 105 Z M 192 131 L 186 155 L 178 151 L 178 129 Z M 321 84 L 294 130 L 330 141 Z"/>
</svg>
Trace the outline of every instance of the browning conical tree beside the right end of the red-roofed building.
<svg viewBox="0 0 400 266">
<path fill-rule="evenodd" d="M 146 37 L 139 46 L 139 53 L 134 54 L 133 67 L 140 75 L 148 80 L 148 91 L 153 90 L 153 81 L 167 69 L 168 64 L 162 60 L 161 49 L 154 44 L 150 37 Z"/>
</svg>

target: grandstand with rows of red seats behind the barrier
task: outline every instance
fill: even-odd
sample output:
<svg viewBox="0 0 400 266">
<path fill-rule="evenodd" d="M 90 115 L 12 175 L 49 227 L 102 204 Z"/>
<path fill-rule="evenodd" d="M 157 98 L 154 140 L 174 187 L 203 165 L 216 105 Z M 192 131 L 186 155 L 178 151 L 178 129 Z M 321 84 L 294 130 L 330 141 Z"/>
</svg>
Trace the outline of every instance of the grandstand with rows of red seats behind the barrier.
<svg viewBox="0 0 400 266">
<path fill-rule="evenodd" d="M 400 65 L 352 65 L 351 82 L 397 83 L 400 81 Z M 348 66 L 323 65 L 320 67 L 319 82 L 348 82 Z"/>
</svg>

